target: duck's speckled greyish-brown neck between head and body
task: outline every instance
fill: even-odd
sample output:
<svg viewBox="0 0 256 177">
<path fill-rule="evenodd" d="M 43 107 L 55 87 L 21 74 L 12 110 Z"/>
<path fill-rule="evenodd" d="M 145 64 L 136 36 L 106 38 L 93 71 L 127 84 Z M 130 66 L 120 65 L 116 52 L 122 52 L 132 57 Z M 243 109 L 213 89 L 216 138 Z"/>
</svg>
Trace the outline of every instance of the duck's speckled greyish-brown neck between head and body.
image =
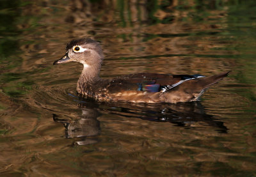
<svg viewBox="0 0 256 177">
<path fill-rule="evenodd" d="M 93 86 L 100 81 L 99 73 L 101 63 L 98 65 L 95 63 L 88 65 L 84 62 L 82 64 L 84 68 L 77 81 L 77 92 L 81 95 L 88 95 L 89 93 L 93 93 Z"/>
</svg>

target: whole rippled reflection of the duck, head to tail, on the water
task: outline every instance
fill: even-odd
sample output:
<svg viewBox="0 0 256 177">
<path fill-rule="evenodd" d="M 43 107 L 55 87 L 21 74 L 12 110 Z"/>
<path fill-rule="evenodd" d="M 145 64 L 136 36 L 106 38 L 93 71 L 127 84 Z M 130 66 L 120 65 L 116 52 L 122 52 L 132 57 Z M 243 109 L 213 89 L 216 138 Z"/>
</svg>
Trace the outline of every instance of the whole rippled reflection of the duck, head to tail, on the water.
<svg viewBox="0 0 256 177">
<path fill-rule="evenodd" d="M 228 128 L 222 121 L 214 119 L 206 114 L 200 102 L 188 102 L 181 104 L 97 104 L 91 100 L 85 100 L 77 104 L 81 108 L 82 114 L 76 119 L 60 118 L 53 114 L 56 122 L 63 123 L 65 127 L 65 137 L 79 137 L 81 141 L 77 144 L 93 144 L 98 142 L 96 135 L 100 134 L 100 122 L 97 117 L 99 111 L 108 114 L 117 114 L 126 118 L 140 118 L 146 121 L 157 121 L 173 123 L 180 127 L 196 127 L 198 123 L 204 126 L 213 127 L 214 130 L 226 133 Z M 90 138 L 88 138 L 90 137 Z"/>
</svg>

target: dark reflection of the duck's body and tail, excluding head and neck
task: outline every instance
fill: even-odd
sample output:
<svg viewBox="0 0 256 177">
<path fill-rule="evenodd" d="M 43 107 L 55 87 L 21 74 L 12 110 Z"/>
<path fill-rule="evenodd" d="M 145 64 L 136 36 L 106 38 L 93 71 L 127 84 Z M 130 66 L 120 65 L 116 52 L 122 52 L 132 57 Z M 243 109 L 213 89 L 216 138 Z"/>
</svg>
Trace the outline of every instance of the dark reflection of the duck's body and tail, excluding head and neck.
<svg viewBox="0 0 256 177">
<path fill-rule="evenodd" d="M 106 110 L 106 107 L 105 107 Z M 178 104 L 111 104 L 108 112 L 120 116 L 135 117 L 147 121 L 169 122 L 180 127 L 196 127 L 202 123 L 213 127 L 216 131 L 227 133 L 228 128 L 222 121 L 206 114 L 200 102 L 185 102 Z"/>
</svg>

